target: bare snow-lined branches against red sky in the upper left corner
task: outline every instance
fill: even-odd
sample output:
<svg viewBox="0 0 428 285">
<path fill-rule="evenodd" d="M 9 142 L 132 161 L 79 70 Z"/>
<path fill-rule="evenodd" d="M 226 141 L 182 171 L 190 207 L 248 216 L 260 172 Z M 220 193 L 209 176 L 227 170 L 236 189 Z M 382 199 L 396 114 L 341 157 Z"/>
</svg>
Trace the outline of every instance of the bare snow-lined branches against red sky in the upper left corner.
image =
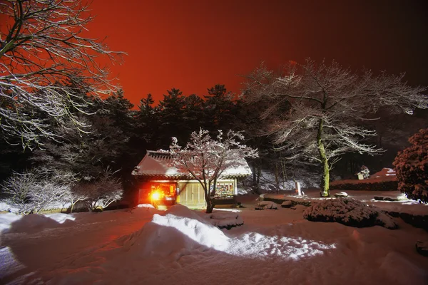
<svg viewBox="0 0 428 285">
<path fill-rule="evenodd" d="M 0 33 L 0 129 L 6 139 L 21 138 L 23 147 L 57 139 L 46 117 L 85 126 L 71 112 L 84 113 L 88 105 L 76 93 L 116 90 L 96 58 L 115 61 L 122 54 L 81 36 L 93 20 L 88 6 L 80 0 L 6 0 L 0 13 L 6 19 Z"/>
</svg>

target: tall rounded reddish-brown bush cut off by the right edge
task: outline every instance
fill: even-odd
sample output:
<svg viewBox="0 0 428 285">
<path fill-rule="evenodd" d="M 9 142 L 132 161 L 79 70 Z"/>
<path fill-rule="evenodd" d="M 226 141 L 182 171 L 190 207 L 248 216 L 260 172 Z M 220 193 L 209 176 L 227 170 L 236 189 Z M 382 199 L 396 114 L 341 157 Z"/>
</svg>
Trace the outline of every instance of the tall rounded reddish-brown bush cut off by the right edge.
<svg viewBox="0 0 428 285">
<path fill-rule="evenodd" d="M 428 129 L 409 138 L 412 144 L 394 160 L 398 190 L 409 199 L 428 203 Z"/>
</svg>

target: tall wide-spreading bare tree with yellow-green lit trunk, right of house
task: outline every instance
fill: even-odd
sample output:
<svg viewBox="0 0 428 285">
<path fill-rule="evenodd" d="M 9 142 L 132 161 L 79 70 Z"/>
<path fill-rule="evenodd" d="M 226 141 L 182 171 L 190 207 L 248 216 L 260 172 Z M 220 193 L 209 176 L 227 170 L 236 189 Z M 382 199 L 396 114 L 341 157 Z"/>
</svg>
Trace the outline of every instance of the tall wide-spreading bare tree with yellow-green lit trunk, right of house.
<svg viewBox="0 0 428 285">
<path fill-rule="evenodd" d="M 290 64 L 282 74 L 262 65 L 248 76 L 244 98 L 248 103 L 268 100 L 262 115 L 265 134 L 288 150 L 288 158 L 320 164 L 320 195 L 328 196 L 330 170 L 340 155 L 379 152 L 365 142 L 376 135 L 361 126 L 368 114 L 384 105 L 406 113 L 428 107 L 425 88 L 407 86 L 403 76 L 358 74 L 334 61 L 317 65 L 310 59 L 303 65 Z"/>
</svg>

